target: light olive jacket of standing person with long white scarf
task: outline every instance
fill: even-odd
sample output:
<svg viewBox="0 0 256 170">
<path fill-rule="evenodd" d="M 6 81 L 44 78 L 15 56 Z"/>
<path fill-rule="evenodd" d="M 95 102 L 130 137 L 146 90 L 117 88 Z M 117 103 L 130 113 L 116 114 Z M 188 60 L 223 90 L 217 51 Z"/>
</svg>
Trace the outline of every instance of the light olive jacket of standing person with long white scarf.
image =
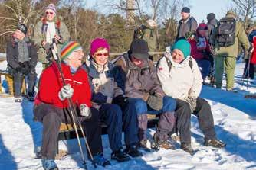
<svg viewBox="0 0 256 170">
<path fill-rule="evenodd" d="M 34 37 L 32 37 L 34 44 L 38 47 L 38 61 L 41 63 L 48 63 L 48 59 L 46 59 L 47 54 L 44 47 L 41 45 L 42 41 L 46 41 L 47 27 L 48 24 L 46 23 L 45 18 L 42 18 L 34 27 Z M 57 50 L 60 55 L 61 44 L 70 39 L 70 34 L 67 30 L 67 26 L 59 18 L 55 21 L 55 28 L 56 34 L 61 37 L 61 40 L 57 42 Z"/>
</svg>

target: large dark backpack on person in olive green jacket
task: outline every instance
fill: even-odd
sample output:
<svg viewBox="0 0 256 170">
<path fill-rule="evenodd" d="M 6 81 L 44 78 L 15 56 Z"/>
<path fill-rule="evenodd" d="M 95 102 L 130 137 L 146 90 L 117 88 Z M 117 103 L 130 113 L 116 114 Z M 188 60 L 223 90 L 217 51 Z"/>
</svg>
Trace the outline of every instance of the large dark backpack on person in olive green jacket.
<svg viewBox="0 0 256 170">
<path fill-rule="evenodd" d="M 217 43 L 219 47 L 229 47 L 235 43 L 235 18 L 222 18 L 218 22 Z"/>
</svg>

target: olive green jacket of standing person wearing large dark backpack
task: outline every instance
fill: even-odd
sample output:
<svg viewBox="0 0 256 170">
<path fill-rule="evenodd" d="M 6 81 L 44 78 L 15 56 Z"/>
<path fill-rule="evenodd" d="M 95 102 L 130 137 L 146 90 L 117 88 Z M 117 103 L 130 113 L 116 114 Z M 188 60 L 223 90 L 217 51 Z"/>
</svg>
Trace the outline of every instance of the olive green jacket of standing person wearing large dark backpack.
<svg viewBox="0 0 256 170">
<path fill-rule="evenodd" d="M 215 31 L 217 32 L 217 31 Z M 217 34 L 215 34 L 214 38 L 216 39 Z M 238 56 L 238 43 L 241 43 L 242 47 L 245 50 L 248 50 L 250 47 L 250 43 L 247 35 L 245 34 L 245 29 L 241 22 L 236 21 L 235 25 L 235 43 L 229 47 L 219 47 L 218 43 L 215 43 L 215 56 L 229 56 L 229 57 L 237 57 Z"/>
</svg>

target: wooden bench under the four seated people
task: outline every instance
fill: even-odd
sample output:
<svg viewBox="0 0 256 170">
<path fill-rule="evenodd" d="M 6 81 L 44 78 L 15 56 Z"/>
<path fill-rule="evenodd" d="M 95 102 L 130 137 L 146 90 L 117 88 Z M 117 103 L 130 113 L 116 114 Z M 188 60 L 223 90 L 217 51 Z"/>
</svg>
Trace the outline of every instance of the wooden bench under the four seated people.
<svg viewBox="0 0 256 170">
<path fill-rule="evenodd" d="M 158 123 L 159 118 L 156 115 L 148 114 L 148 128 L 156 127 L 156 123 Z M 101 123 L 102 134 L 107 134 L 107 126 L 104 123 Z M 82 136 L 81 130 L 77 128 L 79 136 Z M 71 140 L 77 138 L 76 132 L 74 130 L 73 125 L 61 123 L 61 127 L 59 130 L 59 135 L 57 140 Z M 57 151 L 58 151 L 58 143 L 57 143 Z"/>
</svg>

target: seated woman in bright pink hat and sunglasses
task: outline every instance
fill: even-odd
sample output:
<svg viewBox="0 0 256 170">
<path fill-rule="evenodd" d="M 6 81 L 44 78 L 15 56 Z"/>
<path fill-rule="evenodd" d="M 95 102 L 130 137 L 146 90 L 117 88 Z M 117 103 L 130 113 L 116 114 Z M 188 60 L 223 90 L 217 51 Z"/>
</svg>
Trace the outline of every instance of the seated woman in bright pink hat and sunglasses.
<svg viewBox="0 0 256 170">
<path fill-rule="evenodd" d="M 142 156 L 136 149 L 138 126 L 135 107 L 130 104 L 123 91 L 117 87 L 113 76 L 113 64 L 109 61 L 110 45 L 103 38 L 90 43 L 90 59 L 84 68 L 90 79 L 93 107 L 100 111 L 100 118 L 107 124 L 111 159 L 118 162 L 130 160 L 129 156 Z M 123 120 L 123 122 L 122 122 Z M 122 146 L 122 124 L 126 149 Z"/>
</svg>

